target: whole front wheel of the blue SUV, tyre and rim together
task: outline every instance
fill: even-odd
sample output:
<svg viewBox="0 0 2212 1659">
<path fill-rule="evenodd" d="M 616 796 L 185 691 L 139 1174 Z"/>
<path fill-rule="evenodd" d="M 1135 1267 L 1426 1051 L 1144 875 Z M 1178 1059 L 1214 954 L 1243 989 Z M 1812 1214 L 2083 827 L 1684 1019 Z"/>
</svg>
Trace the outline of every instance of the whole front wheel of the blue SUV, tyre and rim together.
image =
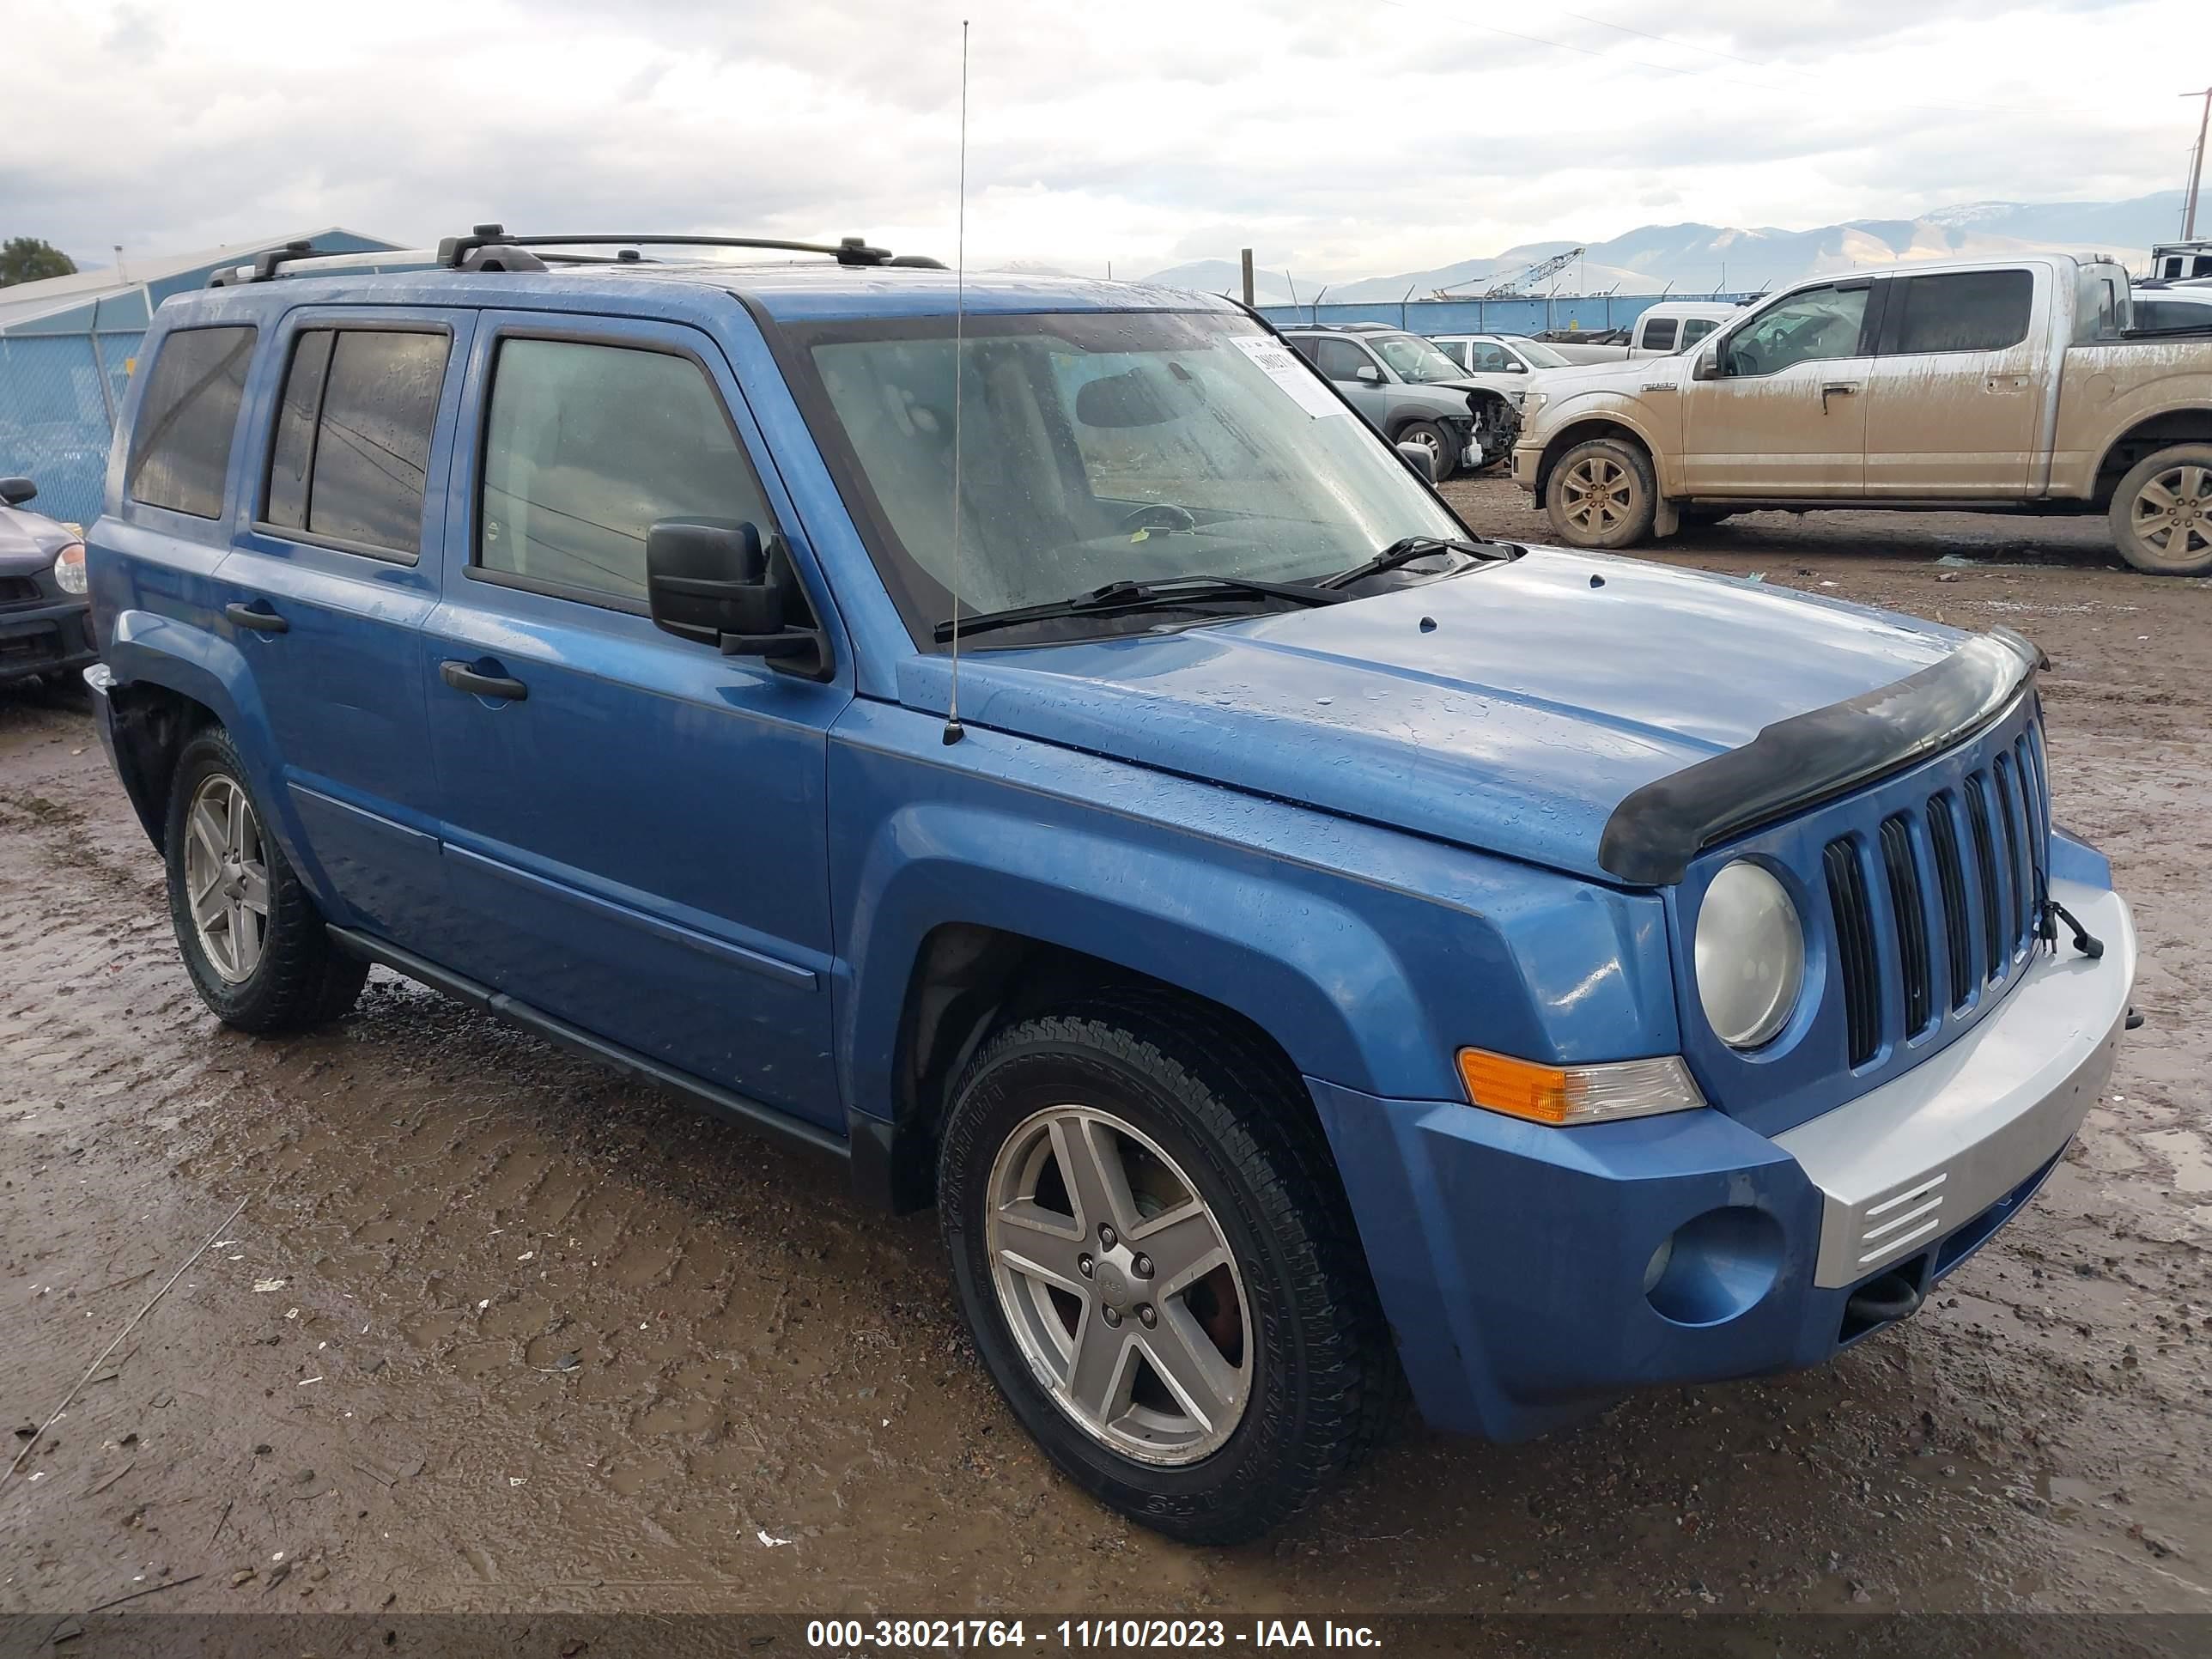
<svg viewBox="0 0 2212 1659">
<path fill-rule="evenodd" d="M 938 1161 L 960 1310 L 1079 1486 L 1192 1544 L 1256 1537 L 1363 1458 L 1396 1358 L 1296 1075 L 1130 995 L 969 1066 Z"/>
</svg>

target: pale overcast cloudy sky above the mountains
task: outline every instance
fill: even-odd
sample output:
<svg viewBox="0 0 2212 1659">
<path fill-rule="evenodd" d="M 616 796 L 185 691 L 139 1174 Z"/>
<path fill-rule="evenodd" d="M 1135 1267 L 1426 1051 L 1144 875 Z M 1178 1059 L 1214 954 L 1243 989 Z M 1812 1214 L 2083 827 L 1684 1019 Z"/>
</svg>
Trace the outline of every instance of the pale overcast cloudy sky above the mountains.
<svg viewBox="0 0 2212 1659">
<path fill-rule="evenodd" d="M 0 234 L 865 232 L 1312 276 L 2177 188 L 2203 0 L 0 0 Z M 1484 22 L 1475 22 L 1482 15 Z M 2174 46 L 2192 44 L 2192 53 Z"/>
</svg>

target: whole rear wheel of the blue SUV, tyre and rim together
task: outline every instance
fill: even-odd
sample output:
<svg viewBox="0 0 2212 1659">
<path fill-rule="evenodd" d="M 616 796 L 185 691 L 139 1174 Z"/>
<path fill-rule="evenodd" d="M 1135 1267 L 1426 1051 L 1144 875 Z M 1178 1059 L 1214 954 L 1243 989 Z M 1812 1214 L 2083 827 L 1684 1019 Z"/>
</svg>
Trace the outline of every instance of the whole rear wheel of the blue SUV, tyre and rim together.
<svg viewBox="0 0 2212 1659">
<path fill-rule="evenodd" d="M 184 745 L 161 841 L 184 967 L 223 1024 L 296 1031 L 352 1009 L 369 967 L 330 942 L 265 823 L 230 732 Z"/>
</svg>

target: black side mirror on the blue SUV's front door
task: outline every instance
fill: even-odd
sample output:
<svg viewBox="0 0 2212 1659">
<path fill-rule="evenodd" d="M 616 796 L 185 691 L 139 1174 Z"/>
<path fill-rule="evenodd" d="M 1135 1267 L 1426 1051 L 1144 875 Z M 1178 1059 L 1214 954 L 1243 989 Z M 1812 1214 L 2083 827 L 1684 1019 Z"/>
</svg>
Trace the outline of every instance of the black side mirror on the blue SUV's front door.
<svg viewBox="0 0 2212 1659">
<path fill-rule="evenodd" d="M 830 679 L 823 630 L 785 624 L 790 593 L 790 560 L 763 546 L 757 524 L 664 518 L 646 531 L 655 628 L 723 657 L 765 657 L 783 672 Z"/>
</svg>

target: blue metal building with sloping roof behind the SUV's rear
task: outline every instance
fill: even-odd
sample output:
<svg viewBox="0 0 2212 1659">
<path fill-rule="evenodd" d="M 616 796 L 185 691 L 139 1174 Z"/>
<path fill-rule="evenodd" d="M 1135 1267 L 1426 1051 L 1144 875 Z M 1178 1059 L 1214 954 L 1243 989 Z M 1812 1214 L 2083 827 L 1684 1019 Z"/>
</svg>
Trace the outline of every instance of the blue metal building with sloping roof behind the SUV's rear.
<svg viewBox="0 0 2212 1659">
<path fill-rule="evenodd" d="M 396 248 L 330 226 L 0 288 L 0 476 L 35 480 L 35 509 L 49 518 L 97 518 L 115 411 L 155 310 L 170 294 L 206 288 L 215 270 L 290 241 L 332 254 Z"/>
</svg>

